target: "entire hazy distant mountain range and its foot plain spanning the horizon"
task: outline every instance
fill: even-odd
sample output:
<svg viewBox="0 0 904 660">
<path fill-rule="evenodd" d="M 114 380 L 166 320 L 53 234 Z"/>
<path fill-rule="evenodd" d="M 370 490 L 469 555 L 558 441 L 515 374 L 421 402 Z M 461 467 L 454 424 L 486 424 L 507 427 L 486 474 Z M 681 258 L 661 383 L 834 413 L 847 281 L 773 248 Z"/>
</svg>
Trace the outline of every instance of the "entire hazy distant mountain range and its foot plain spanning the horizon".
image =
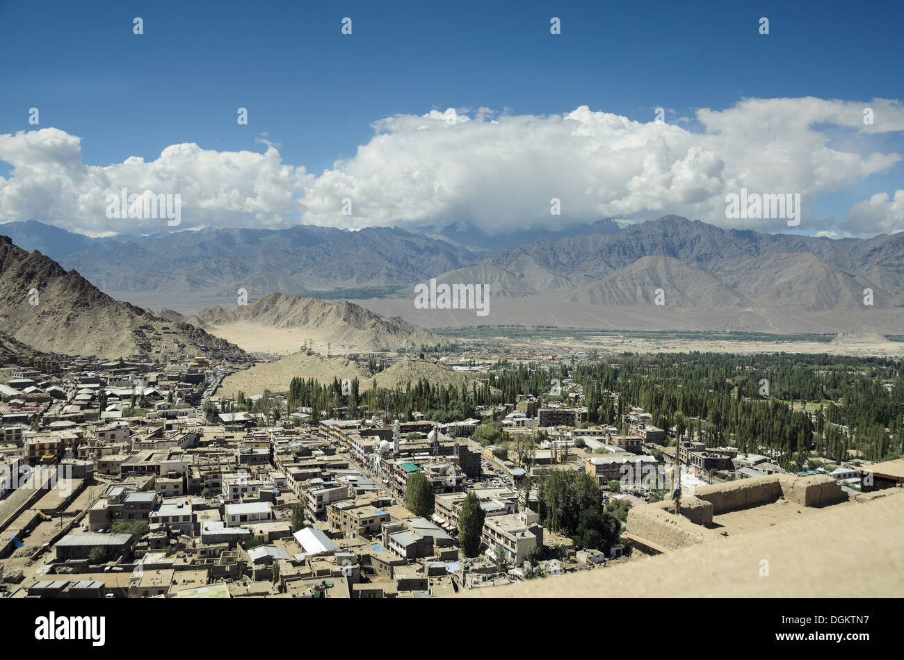
<svg viewBox="0 0 904 660">
<path fill-rule="evenodd" d="M 251 300 L 338 290 L 335 297 L 428 328 L 514 323 L 900 334 L 904 327 L 904 232 L 830 239 L 722 229 L 676 216 L 625 228 L 600 220 L 498 234 L 457 223 L 73 235 L 68 242 L 41 223 L 0 231 L 11 228 L 48 248 L 71 246 L 61 263 L 108 293 L 184 313 L 231 307 L 244 288 Z M 489 316 L 415 309 L 414 285 L 430 278 L 486 284 Z"/>
</svg>

